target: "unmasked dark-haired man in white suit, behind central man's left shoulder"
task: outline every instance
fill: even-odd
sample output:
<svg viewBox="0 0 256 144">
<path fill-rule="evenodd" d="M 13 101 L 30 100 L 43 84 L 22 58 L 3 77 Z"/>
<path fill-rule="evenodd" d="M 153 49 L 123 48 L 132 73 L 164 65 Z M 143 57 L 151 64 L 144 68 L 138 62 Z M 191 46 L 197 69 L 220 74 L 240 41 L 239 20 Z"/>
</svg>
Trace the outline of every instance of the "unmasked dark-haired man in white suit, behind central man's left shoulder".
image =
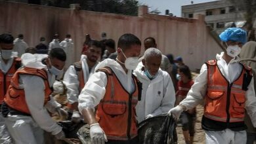
<svg viewBox="0 0 256 144">
<path fill-rule="evenodd" d="M 95 73 L 98 58 L 101 56 L 102 46 L 100 41 L 91 40 L 89 48 L 86 51 L 87 55 L 82 54 L 81 60 L 70 65 L 64 75 L 63 82 L 68 89 L 68 108 L 70 109 L 70 113 L 73 113 L 72 120 L 74 122 L 79 122 L 80 120 L 77 107 L 78 96 L 89 77 Z"/>
</svg>

